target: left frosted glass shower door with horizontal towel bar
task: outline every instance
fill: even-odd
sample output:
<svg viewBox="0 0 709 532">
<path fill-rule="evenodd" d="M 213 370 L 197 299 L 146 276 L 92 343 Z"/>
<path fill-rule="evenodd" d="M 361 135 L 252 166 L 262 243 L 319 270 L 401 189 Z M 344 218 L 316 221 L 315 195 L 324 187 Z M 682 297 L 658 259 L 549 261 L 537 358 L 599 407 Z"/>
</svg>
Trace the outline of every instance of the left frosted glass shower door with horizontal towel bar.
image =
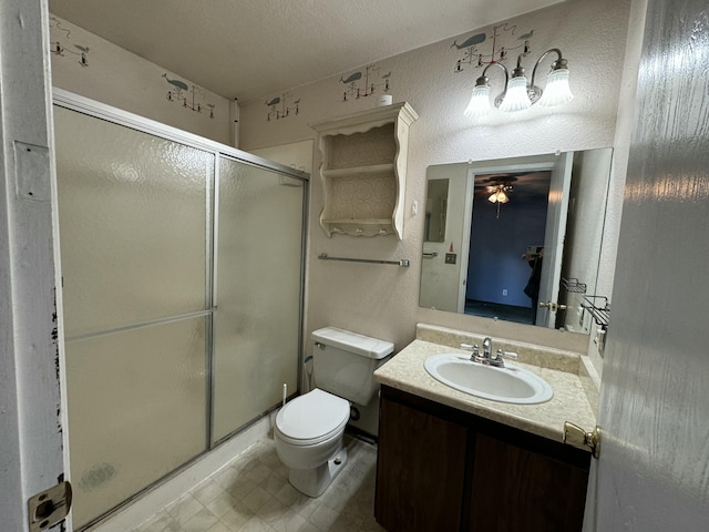
<svg viewBox="0 0 709 532">
<path fill-rule="evenodd" d="M 55 106 L 74 525 L 208 447 L 215 156 Z"/>
</svg>

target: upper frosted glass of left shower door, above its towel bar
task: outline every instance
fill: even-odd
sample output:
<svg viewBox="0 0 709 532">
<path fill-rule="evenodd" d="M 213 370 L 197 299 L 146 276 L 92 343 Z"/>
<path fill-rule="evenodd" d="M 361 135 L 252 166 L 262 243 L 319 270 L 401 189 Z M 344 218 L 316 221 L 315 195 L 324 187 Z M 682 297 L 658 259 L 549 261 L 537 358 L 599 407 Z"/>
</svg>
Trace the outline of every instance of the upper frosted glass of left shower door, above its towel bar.
<svg viewBox="0 0 709 532">
<path fill-rule="evenodd" d="M 69 338 L 205 308 L 214 155 L 54 110 Z"/>
</svg>

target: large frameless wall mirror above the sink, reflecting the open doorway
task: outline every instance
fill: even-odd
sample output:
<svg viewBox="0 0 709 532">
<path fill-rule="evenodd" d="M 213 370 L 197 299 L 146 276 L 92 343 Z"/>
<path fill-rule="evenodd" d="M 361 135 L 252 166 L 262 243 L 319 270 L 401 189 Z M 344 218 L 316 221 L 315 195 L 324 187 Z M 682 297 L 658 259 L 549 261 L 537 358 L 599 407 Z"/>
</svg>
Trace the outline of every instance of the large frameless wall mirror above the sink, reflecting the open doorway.
<svg viewBox="0 0 709 532">
<path fill-rule="evenodd" d="M 420 306 L 589 334 L 612 157 L 429 166 Z"/>
</svg>

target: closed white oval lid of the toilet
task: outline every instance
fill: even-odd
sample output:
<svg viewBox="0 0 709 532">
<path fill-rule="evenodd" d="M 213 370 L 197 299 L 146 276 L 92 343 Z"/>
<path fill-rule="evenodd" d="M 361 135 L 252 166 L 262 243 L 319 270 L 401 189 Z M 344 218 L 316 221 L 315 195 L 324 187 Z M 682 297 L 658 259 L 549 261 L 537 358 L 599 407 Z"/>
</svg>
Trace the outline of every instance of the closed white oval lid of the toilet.
<svg viewBox="0 0 709 532">
<path fill-rule="evenodd" d="M 350 403 L 316 388 L 286 403 L 276 416 L 276 428 L 290 440 L 320 440 L 347 423 Z"/>
</svg>

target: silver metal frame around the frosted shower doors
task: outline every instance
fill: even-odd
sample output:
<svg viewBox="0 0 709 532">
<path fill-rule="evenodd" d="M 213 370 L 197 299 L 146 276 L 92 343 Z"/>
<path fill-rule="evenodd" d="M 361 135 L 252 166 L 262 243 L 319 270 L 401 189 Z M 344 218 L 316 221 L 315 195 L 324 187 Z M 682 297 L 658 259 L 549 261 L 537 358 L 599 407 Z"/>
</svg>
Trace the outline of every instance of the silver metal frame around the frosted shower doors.
<svg viewBox="0 0 709 532">
<path fill-rule="evenodd" d="M 227 440 L 233 438 L 235 434 L 242 432 L 246 428 L 248 428 L 251 423 L 258 421 L 263 418 L 263 416 L 258 416 L 254 420 L 243 424 L 237 428 L 235 431 L 230 432 L 226 437 L 219 439 L 218 441 L 213 441 L 213 432 L 214 432 L 214 402 L 215 402 L 215 390 L 214 390 L 214 369 L 215 369 L 215 351 L 214 351 L 214 316 L 215 311 L 218 307 L 217 301 L 217 238 L 219 234 L 218 227 L 218 192 L 219 192 L 219 164 L 220 157 L 228 157 L 229 160 L 237 161 L 239 163 L 244 163 L 250 166 L 255 166 L 261 170 L 267 170 L 271 172 L 276 172 L 279 175 L 285 175 L 288 177 L 292 177 L 304 183 L 302 191 L 302 212 L 301 212 L 301 242 L 300 242 L 300 276 L 299 276 L 299 301 L 298 301 L 298 337 L 297 337 L 297 382 L 298 390 L 300 390 L 300 383 L 302 382 L 302 335 L 304 335 L 304 320 L 305 320 L 305 286 L 306 286 L 306 250 L 307 250 L 307 234 L 308 234 L 308 209 L 309 209 L 309 201 L 310 201 L 310 190 L 309 182 L 310 175 L 296 170 L 290 166 L 286 166 L 279 163 L 275 163 L 273 161 L 268 161 L 266 158 L 259 157 L 257 155 L 244 152 L 242 150 L 227 146 L 225 144 L 218 143 L 216 141 L 212 141 L 209 139 L 205 139 L 203 136 L 188 133 L 176 127 L 162 124 L 160 122 L 153 121 L 151 119 L 146 119 L 127 111 L 123 111 L 111 105 L 103 104 L 101 102 L 96 102 L 94 100 L 88 99 L 85 96 L 81 96 L 79 94 L 74 94 L 69 91 L 64 91 L 62 89 L 53 88 L 52 89 L 52 103 L 59 108 L 63 108 L 70 111 L 79 112 L 81 114 L 85 114 L 88 116 L 92 116 L 99 120 L 104 120 L 106 122 L 125 126 L 131 130 L 135 130 L 138 132 L 147 133 L 150 135 L 154 135 L 160 139 L 164 139 L 167 141 L 172 141 L 178 144 L 183 144 L 186 146 L 191 146 L 197 150 L 202 150 L 206 153 L 209 153 L 214 156 L 214 171 L 210 177 L 210 182 L 205 186 L 207 187 L 206 194 L 206 225 L 207 225 L 207 234 L 205 235 L 207 243 L 207 253 L 206 253 L 206 278 L 205 278 L 205 293 L 207 295 L 205 301 L 205 310 L 193 313 L 194 317 L 204 316 L 206 318 L 208 332 L 206 335 L 207 345 L 206 349 L 206 397 L 207 405 L 205 412 L 206 416 L 206 446 L 203 452 L 199 452 L 197 456 L 178 467 L 177 469 L 168 472 L 165 477 L 161 478 L 156 482 L 145 487 L 138 493 L 133 495 L 132 498 L 121 502 L 115 508 L 109 510 L 105 514 L 97 516 L 92 520 L 86 526 L 91 526 L 95 522 L 105 519 L 107 515 L 116 512 L 121 508 L 125 507 L 136 498 L 138 498 L 142 493 L 151 490 L 156 484 L 164 482 L 179 473 L 182 470 L 188 468 L 196 460 L 201 459 L 205 454 L 209 453 L 220 444 L 225 443 Z M 53 126 L 53 114 L 52 114 L 52 124 L 51 124 L 51 134 L 54 134 Z M 53 140 L 53 139 L 52 139 Z M 55 164 L 55 161 L 52 160 L 52 164 Z M 54 177 L 55 178 L 55 177 Z M 59 319 L 63 320 L 63 309 L 60 307 L 58 309 Z M 192 316 L 192 315 L 191 315 Z M 183 316 L 181 316 L 182 318 Z M 65 385 L 64 385 L 65 386 Z M 276 405 L 274 406 L 276 408 Z M 69 437 L 64 438 L 65 446 L 65 456 L 70 457 L 69 449 Z M 71 479 L 70 479 L 71 480 Z"/>
</svg>

